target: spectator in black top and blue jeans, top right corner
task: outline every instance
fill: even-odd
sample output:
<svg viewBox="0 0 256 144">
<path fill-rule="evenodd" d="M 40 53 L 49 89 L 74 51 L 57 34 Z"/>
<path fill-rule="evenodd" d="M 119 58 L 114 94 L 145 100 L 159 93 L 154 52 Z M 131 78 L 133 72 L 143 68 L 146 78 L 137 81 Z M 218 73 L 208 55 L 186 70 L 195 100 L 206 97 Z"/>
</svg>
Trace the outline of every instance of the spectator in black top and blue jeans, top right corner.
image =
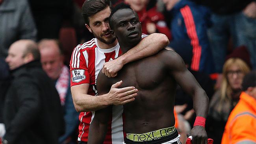
<svg viewBox="0 0 256 144">
<path fill-rule="evenodd" d="M 248 48 L 253 69 L 256 69 L 256 1 L 202 0 L 201 3 L 213 12 L 213 25 L 208 34 L 216 72 L 222 72 L 230 38 L 234 48 L 241 45 Z"/>
</svg>

